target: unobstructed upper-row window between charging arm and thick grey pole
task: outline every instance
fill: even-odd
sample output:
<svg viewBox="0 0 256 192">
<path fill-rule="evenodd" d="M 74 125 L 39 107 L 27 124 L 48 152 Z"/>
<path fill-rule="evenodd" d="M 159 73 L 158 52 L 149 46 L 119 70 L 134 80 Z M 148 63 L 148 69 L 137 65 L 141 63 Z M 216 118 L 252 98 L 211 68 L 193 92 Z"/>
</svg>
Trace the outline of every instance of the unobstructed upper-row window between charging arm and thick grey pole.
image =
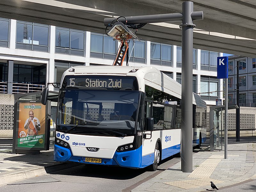
<svg viewBox="0 0 256 192">
<path fill-rule="evenodd" d="M 150 44 L 150 63 L 153 65 L 172 66 L 171 61 L 171 45 L 166 44 Z"/>
</svg>

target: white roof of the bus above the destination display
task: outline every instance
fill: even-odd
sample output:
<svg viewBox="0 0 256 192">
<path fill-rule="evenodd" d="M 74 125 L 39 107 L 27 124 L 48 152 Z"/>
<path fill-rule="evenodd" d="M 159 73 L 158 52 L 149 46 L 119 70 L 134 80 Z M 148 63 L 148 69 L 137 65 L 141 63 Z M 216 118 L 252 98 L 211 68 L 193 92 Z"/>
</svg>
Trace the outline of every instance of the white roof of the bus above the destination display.
<svg viewBox="0 0 256 192">
<path fill-rule="evenodd" d="M 66 70 L 61 78 L 67 75 L 120 75 L 120 76 L 136 76 L 139 85 L 145 83 L 158 90 L 162 90 L 181 99 L 181 84 L 173 80 L 171 77 L 165 75 L 155 67 L 133 67 L 133 66 L 76 66 Z M 141 87 L 144 92 L 144 87 Z M 201 100 L 199 95 L 193 93 L 193 104 L 205 106 L 206 103 Z"/>
</svg>

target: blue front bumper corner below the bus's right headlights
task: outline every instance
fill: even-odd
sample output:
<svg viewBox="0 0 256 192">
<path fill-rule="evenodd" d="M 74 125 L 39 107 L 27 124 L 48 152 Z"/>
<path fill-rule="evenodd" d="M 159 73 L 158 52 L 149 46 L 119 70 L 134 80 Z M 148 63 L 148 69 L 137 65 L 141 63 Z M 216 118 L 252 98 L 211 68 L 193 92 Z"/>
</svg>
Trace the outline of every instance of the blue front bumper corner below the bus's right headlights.
<svg viewBox="0 0 256 192">
<path fill-rule="evenodd" d="M 114 159 L 116 163 L 122 167 L 141 168 L 141 158 L 142 146 L 132 151 L 116 151 L 116 153 L 114 154 Z"/>
</svg>

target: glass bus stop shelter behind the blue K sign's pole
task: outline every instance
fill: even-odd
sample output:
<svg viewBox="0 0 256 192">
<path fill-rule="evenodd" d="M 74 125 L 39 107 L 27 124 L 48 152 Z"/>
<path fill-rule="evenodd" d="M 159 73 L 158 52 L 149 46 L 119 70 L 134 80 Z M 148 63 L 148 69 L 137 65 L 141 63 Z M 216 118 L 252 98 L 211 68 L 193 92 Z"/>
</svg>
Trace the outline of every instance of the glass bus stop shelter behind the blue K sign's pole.
<svg viewBox="0 0 256 192">
<path fill-rule="evenodd" d="M 236 109 L 237 105 L 228 105 L 228 109 Z M 216 147 L 222 145 L 222 131 L 223 129 L 223 117 L 222 112 L 225 110 L 225 105 L 211 106 L 210 107 L 210 149 L 214 151 Z M 221 135 L 221 139 L 220 139 Z"/>
</svg>

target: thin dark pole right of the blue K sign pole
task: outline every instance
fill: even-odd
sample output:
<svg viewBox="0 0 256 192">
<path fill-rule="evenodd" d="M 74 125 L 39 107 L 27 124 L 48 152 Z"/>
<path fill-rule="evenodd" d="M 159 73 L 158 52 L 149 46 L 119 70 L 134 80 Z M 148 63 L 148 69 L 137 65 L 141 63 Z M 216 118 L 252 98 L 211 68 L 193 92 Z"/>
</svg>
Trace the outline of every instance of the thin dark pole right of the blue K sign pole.
<svg viewBox="0 0 256 192">
<path fill-rule="evenodd" d="M 240 141 L 239 61 L 236 62 L 236 141 Z"/>
</svg>

